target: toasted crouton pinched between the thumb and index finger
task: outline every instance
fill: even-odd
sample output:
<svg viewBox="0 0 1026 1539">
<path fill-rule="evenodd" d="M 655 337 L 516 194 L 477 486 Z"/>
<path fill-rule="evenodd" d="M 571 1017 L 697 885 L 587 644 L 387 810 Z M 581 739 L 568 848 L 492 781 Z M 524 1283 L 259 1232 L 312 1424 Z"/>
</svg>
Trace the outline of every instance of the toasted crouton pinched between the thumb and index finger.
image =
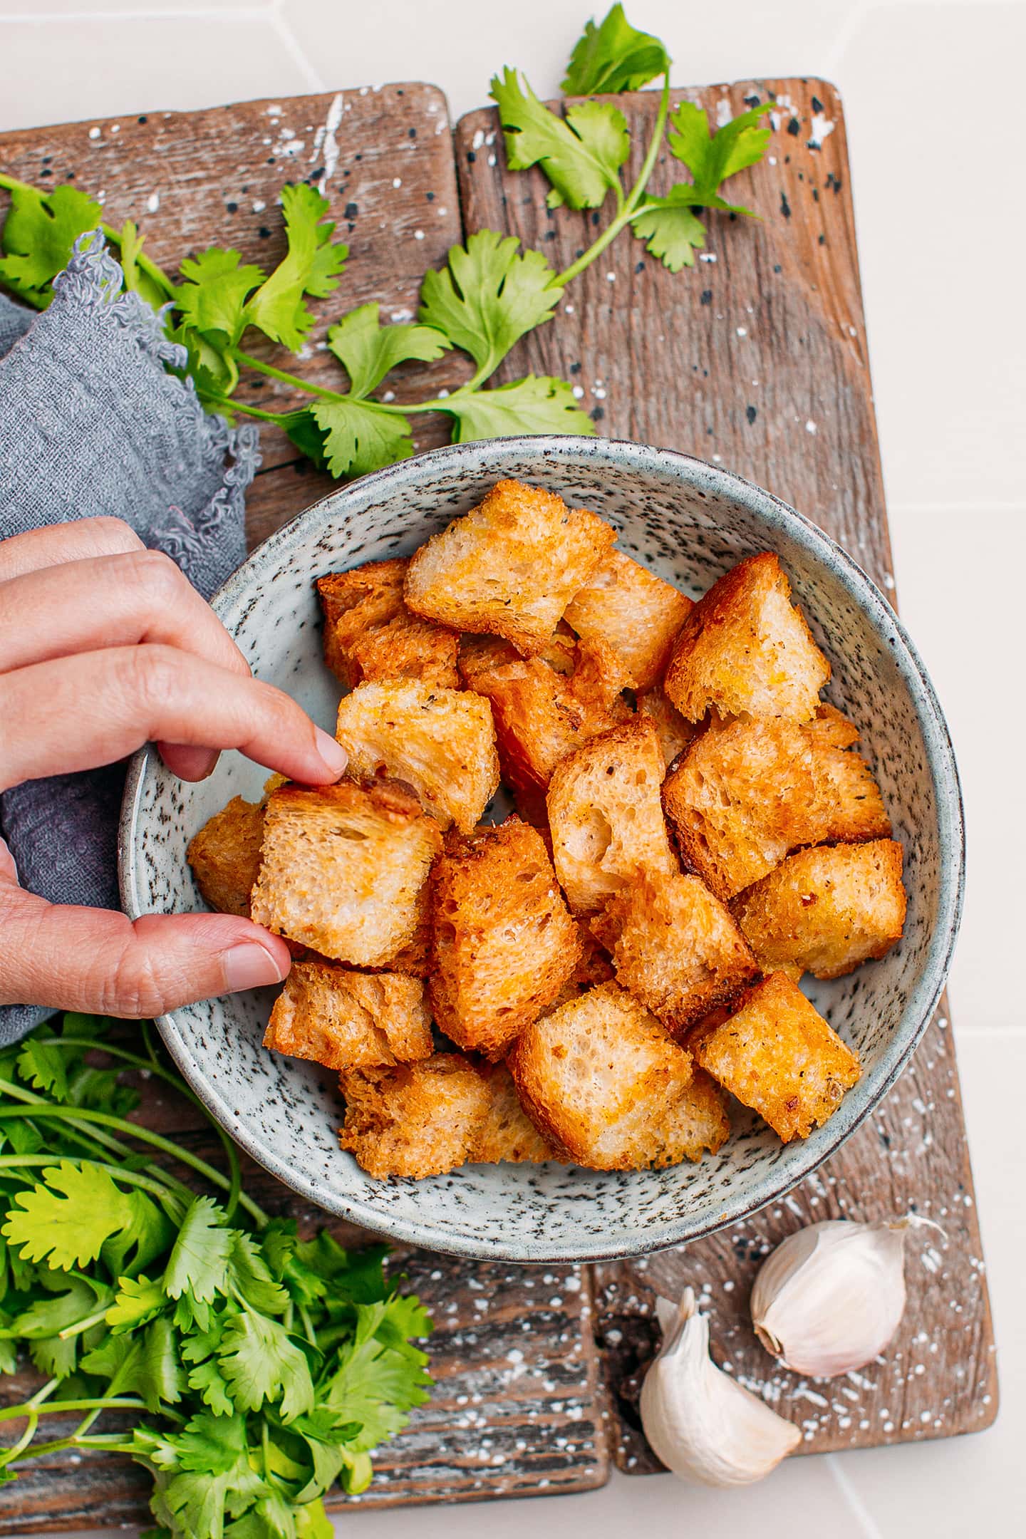
<svg viewBox="0 0 1026 1539">
<path fill-rule="evenodd" d="M 441 834 L 400 786 L 286 785 L 268 800 L 252 919 L 321 956 L 383 966 L 421 922 Z"/>
</svg>

